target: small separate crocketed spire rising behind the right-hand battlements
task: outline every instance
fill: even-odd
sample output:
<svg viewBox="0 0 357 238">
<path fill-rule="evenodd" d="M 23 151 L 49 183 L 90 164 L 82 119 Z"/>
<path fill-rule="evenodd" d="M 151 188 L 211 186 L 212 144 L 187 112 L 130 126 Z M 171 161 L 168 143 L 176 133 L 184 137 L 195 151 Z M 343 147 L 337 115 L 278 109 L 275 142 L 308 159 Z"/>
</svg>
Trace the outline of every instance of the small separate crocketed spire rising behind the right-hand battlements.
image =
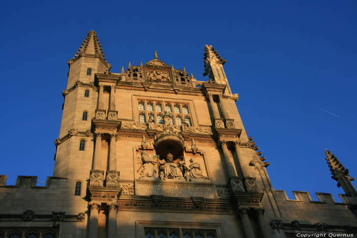
<svg viewBox="0 0 357 238">
<path fill-rule="evenodd" d="M 332 174 L 331 178 L 338 181 L 337 187 L 342 187 L 347 196 L 357 196 L 357 192 L 351 182 L 354 178 L 349 176 L 348 169 L 345 169 L 335 154 L 332 154 L 329 150 L 326 149 L 325 154 L 327 156 L 326 161 L 328 167 Z"/>
</svg>

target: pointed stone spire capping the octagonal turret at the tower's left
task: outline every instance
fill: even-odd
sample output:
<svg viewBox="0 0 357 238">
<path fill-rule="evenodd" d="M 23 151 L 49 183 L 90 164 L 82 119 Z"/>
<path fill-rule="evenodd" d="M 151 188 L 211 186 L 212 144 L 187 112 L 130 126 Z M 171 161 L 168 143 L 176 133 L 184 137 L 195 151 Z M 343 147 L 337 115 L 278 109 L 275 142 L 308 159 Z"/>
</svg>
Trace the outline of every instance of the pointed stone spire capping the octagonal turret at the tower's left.
<svg viewBox="0 0 357 238">
<path fill-rule="evenodd" d="M 111 68 L 111 65 L 108 61 L 106 61 L 103 48 L 101 47 L 95 31 L 88 32 L 88 36 L 84 39 L 74 57 L 67 63 L 68 65 L 71 65 L 74 61 L 84 56 L 99 58 L 108 67 L 108 69 Z"/>
</svg>

